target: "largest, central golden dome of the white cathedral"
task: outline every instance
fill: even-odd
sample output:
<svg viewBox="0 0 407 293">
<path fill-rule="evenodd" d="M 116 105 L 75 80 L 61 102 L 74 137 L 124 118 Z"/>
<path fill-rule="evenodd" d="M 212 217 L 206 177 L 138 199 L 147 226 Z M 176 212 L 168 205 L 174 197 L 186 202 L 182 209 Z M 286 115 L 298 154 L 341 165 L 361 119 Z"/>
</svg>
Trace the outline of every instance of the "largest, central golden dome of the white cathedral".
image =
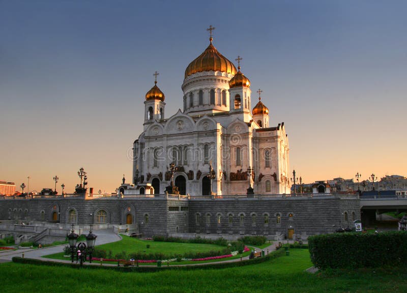
<svg viewBox="0 0 407 293">
<path fill-rule="evenodd" d="M 211 43 L 208 48 L 185 69 L 185 78 L 191 74 L 202 71 L 222 71 L 233 75 L 236 74 L 237 70 L 235 65 L 216 50 L 215 46 L 212 45 L 212 37 L 210 41 Z"/>
</svg>

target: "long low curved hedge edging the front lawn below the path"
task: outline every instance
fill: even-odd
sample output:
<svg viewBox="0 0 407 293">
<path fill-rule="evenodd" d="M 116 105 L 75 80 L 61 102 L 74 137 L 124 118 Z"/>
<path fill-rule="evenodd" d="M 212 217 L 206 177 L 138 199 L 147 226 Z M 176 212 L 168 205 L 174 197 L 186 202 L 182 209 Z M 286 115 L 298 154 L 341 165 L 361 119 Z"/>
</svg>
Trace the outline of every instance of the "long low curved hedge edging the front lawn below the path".
<svg viewBox="0 0 407 293">
<path fill-rule="evenodd" d="M 279 249 L 277 251 L 273 251 L 269 255 L 264 257 L 257 257 L 253 259 L 245 259 L 242 261 L 230 261 L 230 262 L 215 262 L 215 263 L 205 263 L 203 265 L 187 265 L 187 266 L 169 266 L 167 267 L 164 263 L 161 268 L 156 266 L 144 266 L 144 267 L 117 267 L 117 266 L 90 266 L 88 263 L 85 263 L 83 267 L 79 265 L 79 263 L 70 263 L 70 262 L 55 262 L 55 261 L 48 261 L 48 260 L 40 260 L 34 258 L 22 258 L 22 257 L 13 257 L 13 262 L 18 263 L 28 263 L 30 265 L 41 265 L 41 266 L 55 266 L 55 267 L 71 267 L 76 269 L 107 269 L 107 270 L 115 270 L 120 272 L 139 272 L 139 273 L 151 273 L 151 272 L 159 272 L 163 270 L 210 270 L 210 269 L 226 269 L 226 268 L 235 268 L 235 267 L 242 267 L 242 266 L 250 266 L 255 265 L 256 263 L 261 263 L 265 261 L 269 261 L 271 259 L 280 257 L 285 255 L 285 251 L 283 249 Z M 97 263 L 97 262 L 95 262 Z"/>
</svg>

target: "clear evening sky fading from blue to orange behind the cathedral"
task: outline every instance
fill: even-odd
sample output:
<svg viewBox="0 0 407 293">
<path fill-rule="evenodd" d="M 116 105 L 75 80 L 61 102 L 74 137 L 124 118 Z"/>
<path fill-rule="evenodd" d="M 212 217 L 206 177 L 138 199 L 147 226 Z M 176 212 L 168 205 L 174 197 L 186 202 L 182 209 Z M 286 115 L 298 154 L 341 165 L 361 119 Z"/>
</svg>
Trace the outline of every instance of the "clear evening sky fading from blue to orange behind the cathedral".
<svg viewBox="0 0 407 293">
<path fill-rule="evenodd" d="M 243 57 L 305 182 L 406 175 L 406 1 L 0 0 L 0 180 L 111 192 L 158 85 L 182 108 L 189 62 Z M 252 105 L 256 103 L 253 94 Z"/>
</svg>

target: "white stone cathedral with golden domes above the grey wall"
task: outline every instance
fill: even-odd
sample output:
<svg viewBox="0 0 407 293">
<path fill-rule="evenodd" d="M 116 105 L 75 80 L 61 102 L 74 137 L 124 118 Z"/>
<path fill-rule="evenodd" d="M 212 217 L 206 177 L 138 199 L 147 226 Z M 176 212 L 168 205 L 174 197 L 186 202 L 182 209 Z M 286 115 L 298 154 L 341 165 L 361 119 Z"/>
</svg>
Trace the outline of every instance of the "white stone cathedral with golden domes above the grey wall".
<svg viewBox="0 0 407 293">
<path fill-rule="evenodd" d="M 270 126 L 260 90 L 252 108 L 242 58 L 236 69 L 213 45 L 212 30 L 209 46 L 185 69 L 183 110 L 169 118 L 154 74 L 143 132 L 133 144 L 132 184 L 120 193 L 163 194 L 171 185 L 190 196 L 290 193 L 284 123 Z"/>
</svg>

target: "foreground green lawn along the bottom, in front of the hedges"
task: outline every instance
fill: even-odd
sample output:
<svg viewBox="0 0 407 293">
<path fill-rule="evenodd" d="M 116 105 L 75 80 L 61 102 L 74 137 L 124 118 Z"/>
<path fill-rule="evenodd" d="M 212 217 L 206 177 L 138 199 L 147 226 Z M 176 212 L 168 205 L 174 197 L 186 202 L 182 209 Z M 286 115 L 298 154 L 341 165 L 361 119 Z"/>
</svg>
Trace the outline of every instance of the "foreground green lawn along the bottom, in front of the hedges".
<svg viewBox="0 0 407 293">
<path fill-rule="evenodd" d="M 3 292 L 404 292 L 401 269 L 328 271 L 309 274 L 306 249 L 290 249 L 257 265 L 219 270 L 120 273 L 99 269 L 72 269 L 0 264 Z M 18 285 L 17 285 L 18 284 Z"/>
</svg>

